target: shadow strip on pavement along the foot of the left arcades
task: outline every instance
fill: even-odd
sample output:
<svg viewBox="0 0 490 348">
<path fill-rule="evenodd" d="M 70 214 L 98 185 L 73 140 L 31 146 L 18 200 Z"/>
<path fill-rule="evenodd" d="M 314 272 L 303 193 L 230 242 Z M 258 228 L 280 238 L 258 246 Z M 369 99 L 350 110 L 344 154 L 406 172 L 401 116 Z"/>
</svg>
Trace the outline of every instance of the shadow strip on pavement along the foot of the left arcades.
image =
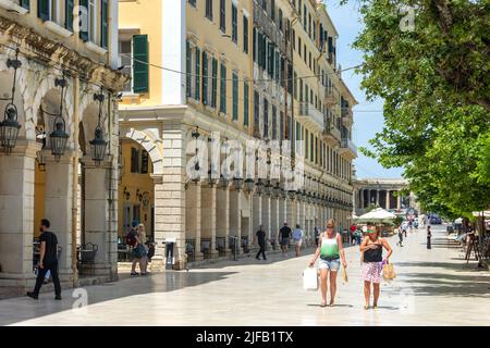
<svg viewBox="0 0 490 348">
<path fill-rule="evenodd" d="M 210 282 L 217 282 L 235 272 L 172 272 L 152 274 L 147 277 L 126 278 L 114 283 L 87 286 L 88 304 L 118 300 L 124 297 L 154 293 L 169 293 Z M 9 325 L 29 319 L 56 314 L 71 310 L 77 298 L 72 297 L 73 289 L 62 291 L 62 301 L 54 301 L 53 294 L 40 294 L 39 300 L 27 297 L 0 301 L 0 325 Z M 144 303 L 142 302 L 142 306 Z M 142 308 L 144 311 L 144 307 Z M 139 313 L 144 314 L 144 312 Z M 139 315 L 137 314 L 137 315 Z M 117 319 L 114 319 L 117 320 Z"/>
</svg>

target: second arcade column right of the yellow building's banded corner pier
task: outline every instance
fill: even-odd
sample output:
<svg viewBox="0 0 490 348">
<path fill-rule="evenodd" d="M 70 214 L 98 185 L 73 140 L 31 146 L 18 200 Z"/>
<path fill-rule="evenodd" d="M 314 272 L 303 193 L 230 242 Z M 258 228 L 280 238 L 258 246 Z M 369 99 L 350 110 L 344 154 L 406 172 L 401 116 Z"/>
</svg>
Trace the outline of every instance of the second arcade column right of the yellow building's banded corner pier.
<svg viewBox="0 0 490 348">
<path fill-rule="evenodd" d="M 203 186 L 200 196 L 200 237 L 211 239 L 210 258 L 215 259 L 218 256 L 216 250 L 216 207 L 217 207 L 217 187 Z M 201 250 L 203 251 L 203 250 Z"/>
</svg>

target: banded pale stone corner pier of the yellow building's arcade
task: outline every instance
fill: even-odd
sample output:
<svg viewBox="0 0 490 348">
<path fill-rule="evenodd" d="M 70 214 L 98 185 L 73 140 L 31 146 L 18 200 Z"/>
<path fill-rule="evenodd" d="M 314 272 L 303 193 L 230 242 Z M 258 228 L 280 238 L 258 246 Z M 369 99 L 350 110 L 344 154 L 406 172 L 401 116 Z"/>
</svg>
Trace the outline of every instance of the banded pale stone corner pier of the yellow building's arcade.
<svg viewBox="0 0 490 348">
<path fill-rule="evenodd" d="M 186 128 L 181 121 L 164 122 L 162 141 L 166 150 L 162 151 L 162 161 L 152 163 L 156 194 L 155 240 L 159 249 L 163 245 L 163 239 L 175 238 L 173 250 L 175 270 L 185 269 L 186 263 L 185 134 Z M 162 174 L 161 182 L 156 179 L 156 174 Z M 189 187 L 191 185 L 194 184 L 189 184 Z"/>
</svg>

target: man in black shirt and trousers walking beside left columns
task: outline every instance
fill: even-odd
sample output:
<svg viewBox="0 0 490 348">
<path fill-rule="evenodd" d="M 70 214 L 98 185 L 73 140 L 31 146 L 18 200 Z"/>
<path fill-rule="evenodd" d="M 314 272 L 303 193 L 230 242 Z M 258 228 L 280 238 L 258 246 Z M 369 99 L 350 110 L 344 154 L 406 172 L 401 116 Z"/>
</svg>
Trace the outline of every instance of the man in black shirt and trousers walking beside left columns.
<svg viewBox="0 0 490 348">
<path fill-rule="evenodd" d="M 39 236 L 40 258 L 37 269 L 36 286 L 34 287 L 34 291 L 27 293 L 28 297 L 36 300 L 39 296 L 39 290 L 42 286 L 46 272 L 48 271 L 51 272 L 52 283 L 54 284 L 54 299 L 61 300 L 61 285 L 60 278 L 58 277 L 58 239 L 52 232 L 48 231 L 49 226 L 49 220 L 42 219 L 40 226 L 41 235 Z"/>
</svg>

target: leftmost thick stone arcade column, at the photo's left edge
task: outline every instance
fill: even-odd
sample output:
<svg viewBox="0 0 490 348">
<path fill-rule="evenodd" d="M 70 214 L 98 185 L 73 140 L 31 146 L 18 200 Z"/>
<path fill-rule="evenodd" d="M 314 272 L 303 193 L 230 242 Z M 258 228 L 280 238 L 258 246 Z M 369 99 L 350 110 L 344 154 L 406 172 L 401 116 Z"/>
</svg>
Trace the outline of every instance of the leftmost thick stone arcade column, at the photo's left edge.
<svg viewBox="0 0 490 348">
<path fill-rule="evenodd" d="M 34 286 L 33 238 L 34 172 L 36 151 L 34 141 L 21 141 L 12 153 L 0 154 L 0 286 L 17 287 L 20 291 Z M 8 223 L 5 223 L 8 222 Z"/>
</svg>

